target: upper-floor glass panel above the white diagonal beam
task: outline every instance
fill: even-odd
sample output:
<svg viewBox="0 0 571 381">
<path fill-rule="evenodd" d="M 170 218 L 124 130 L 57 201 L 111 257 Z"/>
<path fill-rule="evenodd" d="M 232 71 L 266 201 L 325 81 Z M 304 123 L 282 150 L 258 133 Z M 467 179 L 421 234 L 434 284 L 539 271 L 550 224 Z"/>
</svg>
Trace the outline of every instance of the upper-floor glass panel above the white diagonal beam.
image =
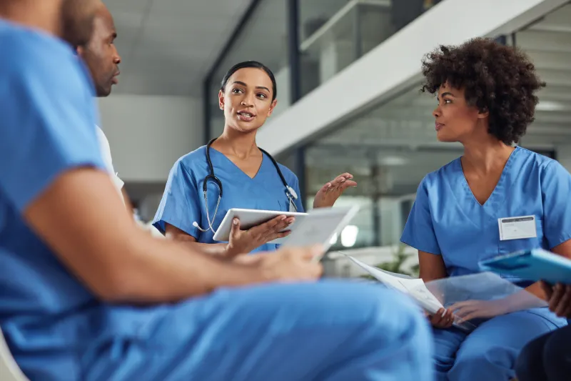
<svg viewBox="0 0 571 381">
<path fill-rule="evenodd" d="M 302 95 L 440 0 L 300 0 Z"/>
</svg>

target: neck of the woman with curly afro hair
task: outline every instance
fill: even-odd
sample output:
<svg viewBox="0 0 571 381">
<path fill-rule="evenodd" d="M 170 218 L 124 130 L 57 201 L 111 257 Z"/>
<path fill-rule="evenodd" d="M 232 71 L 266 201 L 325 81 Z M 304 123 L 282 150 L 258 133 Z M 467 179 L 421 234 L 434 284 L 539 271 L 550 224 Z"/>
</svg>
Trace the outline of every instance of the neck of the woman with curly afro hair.
<svg viewBox="0 0 571 381">
<path fill-rule="evenodd" d="M 482 174 L 503 169 L 514 150 L 514 147 L 500 142 L 490 134 L 485 139 L 474 139 L 463 145 L 463 164 L 468 164 L 470 169 Z"/>
</svg>

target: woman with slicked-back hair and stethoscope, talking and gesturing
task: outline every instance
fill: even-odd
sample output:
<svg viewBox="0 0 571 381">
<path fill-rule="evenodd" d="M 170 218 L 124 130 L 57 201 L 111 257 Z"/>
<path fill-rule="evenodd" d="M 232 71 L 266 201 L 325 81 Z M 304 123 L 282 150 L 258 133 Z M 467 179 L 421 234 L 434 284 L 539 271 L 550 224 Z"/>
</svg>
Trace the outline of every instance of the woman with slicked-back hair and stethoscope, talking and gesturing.
<svg viewBox="0 0 571 381">
<path fill-rule="evenodd" d="M 271 116 L 276 96 L 276 79 L 263 64 L 245 61 L 228 70 L 218 92 L 225 118 L 223 134 L 178 159 L 168 176 L 153 219 L 166 237 L 231 257 L 273 251 L 277 245 L 268 242 L 288 234 L 282 231 L 294 219 L 280 216 L 248 230 L 241 230 L 235 220 L 228 244 L 213 240 L 231 208 L 303 212 L 298 178 L 256 145 L 256 132 Z M 315 195 L 313 207 L 333 206 L 345 189 L 357 185 L 352 179 L 345 173 L 325 184 Z"/>
</svg>

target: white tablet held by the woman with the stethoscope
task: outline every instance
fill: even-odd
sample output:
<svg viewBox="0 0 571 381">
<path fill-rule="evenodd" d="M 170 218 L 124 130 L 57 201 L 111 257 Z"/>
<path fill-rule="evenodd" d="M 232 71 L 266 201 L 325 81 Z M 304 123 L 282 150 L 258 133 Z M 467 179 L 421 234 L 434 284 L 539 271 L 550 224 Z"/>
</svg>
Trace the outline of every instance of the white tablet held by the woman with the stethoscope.
<svg viewBox="0 0 571 381">
<path fill-rule="evenodd" d="M 247 230 L 250 229 L 251 227 L 258 226 L 259 224 L 268 222 L 269 220 L 276 218 L 278 216 L 295 217 L 295 222 L 293 222 L 293 224 L 291 224 L 287 229 L 285 229 L 285 230 L 293 230 L 295 226 L 297 226 L 300 223 L 300 221 L 302 221 L 303 218 L 307 215 L 308 215 L 307 213 L 282 212 L 281 210 L 257 210 L 257 209 L 233 208 L 228 210 L 226 216 L 224 216 L 224 219 L 222 220 L 220 226 L 216 230 L 216 234 L 214 234 L 213 239 L 215 241 L 228 242 L 228 239 L 230 239 L 230 232 L 234 217 L 240 219 L 240 228 L 243 230 Z M 279 244 L 283 242 L 283 239 L 285 238 L 274 239 L 270 243 Z"/>
</svg>

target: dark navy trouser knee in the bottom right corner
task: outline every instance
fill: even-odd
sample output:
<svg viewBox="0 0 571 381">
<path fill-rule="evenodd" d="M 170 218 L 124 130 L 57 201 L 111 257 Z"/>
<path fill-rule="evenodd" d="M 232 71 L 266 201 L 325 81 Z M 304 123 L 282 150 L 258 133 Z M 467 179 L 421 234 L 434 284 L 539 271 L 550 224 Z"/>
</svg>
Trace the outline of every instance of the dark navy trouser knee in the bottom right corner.
<svg viewBox="0 0 571 381">
<path fill-rule="evenodd" d="M 571 326 L 543 335 L 523 348 L 515 363 L 520 381 L 569 381 Z"/>
</svg>

